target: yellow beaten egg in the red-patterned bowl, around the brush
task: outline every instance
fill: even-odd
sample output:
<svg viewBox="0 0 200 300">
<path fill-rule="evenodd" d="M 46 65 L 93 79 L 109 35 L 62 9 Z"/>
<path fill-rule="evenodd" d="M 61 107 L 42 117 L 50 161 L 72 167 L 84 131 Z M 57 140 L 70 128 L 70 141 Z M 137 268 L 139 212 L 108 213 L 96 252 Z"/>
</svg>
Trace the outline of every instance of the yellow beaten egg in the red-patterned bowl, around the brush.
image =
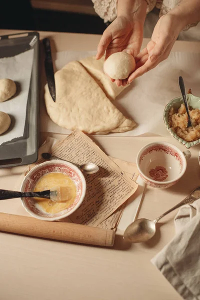
<svg viewBox="0 0 200 300">
<path fill-rule="evenodd" d="M 67 186 L 70 191 L 69 200 L 64 202 L 54 202 L 49 199 L 34 198 L 40 208 L 48 213 L 57 213 L 66 209 L 73 203 L 76 196 L 76 186 L 73 180 L 66 174 L 59 172 L 43 175 L 35 184 L 34 191 L 47 190 L 54 186 Z"/>
</svg>

